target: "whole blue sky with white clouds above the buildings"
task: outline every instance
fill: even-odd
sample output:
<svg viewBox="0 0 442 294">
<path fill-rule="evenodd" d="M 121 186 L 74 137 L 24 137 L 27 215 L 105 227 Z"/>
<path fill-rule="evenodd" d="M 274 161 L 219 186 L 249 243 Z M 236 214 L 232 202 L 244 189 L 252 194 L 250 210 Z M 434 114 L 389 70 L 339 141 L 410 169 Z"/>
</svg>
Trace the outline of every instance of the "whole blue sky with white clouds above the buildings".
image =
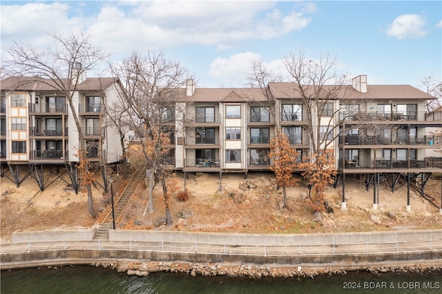
<svg viewBox="0 0 442 294">
<path fill-rule="evenodd" d="M 261 59 L 336 57 L 336 71 L 368 84 L 442 80 L 442 1 L 1 1 L 1 58 L 12 40 L 46 46 L 48 30 L 82 29 L 115 63 L 162 50 L 198 88 L 247 85 Z M 88 74 L 89 75 L 89 74 Z M 90 76 L 93 76 L 91 74 Z"/>
</svg>

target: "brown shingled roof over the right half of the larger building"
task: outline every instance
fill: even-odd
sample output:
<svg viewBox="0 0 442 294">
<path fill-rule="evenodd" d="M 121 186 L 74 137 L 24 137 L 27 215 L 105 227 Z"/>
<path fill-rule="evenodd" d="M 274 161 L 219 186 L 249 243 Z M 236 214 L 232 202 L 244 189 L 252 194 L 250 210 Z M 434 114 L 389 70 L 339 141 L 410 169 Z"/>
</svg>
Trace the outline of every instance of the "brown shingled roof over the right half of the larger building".
<svg viewBox="0 0 442 294">
<path fill-rule="evenodd" d="M 302 99 L 298 84 L 293 82 L 269 83 L 269 88 L 275 99 Z M 320 97 L 326 97 L 327 90 L 336 86 L 323 86 Z M 305 87 L 307 95 L 313 95 L 312 87 Z M 361 93 L 352 86 L 342 86 L 338 99 L 435 99 L 430 94 L 410 85 L 367 85 L 367 92 Z"/>
</svg>

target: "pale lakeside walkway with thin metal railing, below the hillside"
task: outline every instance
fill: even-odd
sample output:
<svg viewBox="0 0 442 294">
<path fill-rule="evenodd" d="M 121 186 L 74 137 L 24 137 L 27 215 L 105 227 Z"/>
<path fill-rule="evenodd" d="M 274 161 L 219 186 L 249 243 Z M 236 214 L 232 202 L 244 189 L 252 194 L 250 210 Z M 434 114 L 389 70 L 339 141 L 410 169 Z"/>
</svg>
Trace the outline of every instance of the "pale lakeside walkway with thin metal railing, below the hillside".
<svg viewBox="0 0 442 294">
<path fill-rule="evenodd" d="M 442 251 L 442 239 L 425 239 L 407 242 L 385 243 L 328 243 L 318 245 L 293 244 L 240 245 L 206 242 L 169 242 L 153 240 L 150 242 L 104 241 L 104 240 L 59 240 L 50 242 L 28 241 L 1 244 L 1 255 L 12 253 L 35 253 L 50 251 L 149 251 L 157 253 L 192 253 L 200 255 L 243 255 L 243 256 L 305 256 L 305 255 L 368 255 L 384 253 L 423 253 Z"/>
</svg>

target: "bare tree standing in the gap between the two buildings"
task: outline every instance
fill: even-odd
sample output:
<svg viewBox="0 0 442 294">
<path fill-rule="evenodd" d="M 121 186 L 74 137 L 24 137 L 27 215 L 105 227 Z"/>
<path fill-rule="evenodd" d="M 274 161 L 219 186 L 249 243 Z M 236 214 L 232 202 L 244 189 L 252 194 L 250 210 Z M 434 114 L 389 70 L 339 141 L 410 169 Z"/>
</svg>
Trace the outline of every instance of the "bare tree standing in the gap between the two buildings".
<svg viewBox="0 0 442 294">
<path fill-rule="evenodd" d="M 166 59 L 163 52 L 148 50 L 133 52 L 113 67 L 113 75 L 123 84 L 120 93 L 126 106 L 126 124 L 142 138 L 142 151 L 163 189 L 166 223 L 172 224 L 169 210 L 167 173 L 163 166 L 167 122 L 175 123 L 175 102 L 180 100 L 177 89 L 186 85 L 188 72 L 180 63 Z M 151 178 L 153 178 L 151 176 Z M 150 185 L 152 186 L 152 185 Z M 153 193 L 149 191 L 148 211 L 153 212 Z"/>
</svg>

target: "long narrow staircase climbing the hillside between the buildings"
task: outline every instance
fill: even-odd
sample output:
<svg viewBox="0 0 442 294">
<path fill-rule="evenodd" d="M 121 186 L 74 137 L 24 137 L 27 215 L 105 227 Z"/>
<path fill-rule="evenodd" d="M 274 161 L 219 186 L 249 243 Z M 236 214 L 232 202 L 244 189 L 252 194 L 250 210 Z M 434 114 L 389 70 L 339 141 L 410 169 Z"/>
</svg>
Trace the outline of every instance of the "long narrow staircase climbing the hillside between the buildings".
<svg viewBox="0 0 442 294">
<path fill-rule="evenodd" d="M 119 199 L 117 199 L 117 201 L 115 201 L 115 192 L 114 192 L 115 222 L 117 222 L 119 216 L 122 215 L 124 208 L 126 208 L 137 186 L 146 177 L 146 168 L 147 168 L 146 164 L 144 166 L 140 166 L 139 168 L 137 168 L 131 180 L 126 185 L 126 188 L 124 188 L 122 195 L 119 197 Z M 97 232 L 95 233 L 94 239 L 109 239 L 109 230 L 111 228 L 113 228 L 112 210 L 111 212 L 108 213 L 108 215 L 106 215 L 106 218 L 99 226 Z"/>
</svg>

